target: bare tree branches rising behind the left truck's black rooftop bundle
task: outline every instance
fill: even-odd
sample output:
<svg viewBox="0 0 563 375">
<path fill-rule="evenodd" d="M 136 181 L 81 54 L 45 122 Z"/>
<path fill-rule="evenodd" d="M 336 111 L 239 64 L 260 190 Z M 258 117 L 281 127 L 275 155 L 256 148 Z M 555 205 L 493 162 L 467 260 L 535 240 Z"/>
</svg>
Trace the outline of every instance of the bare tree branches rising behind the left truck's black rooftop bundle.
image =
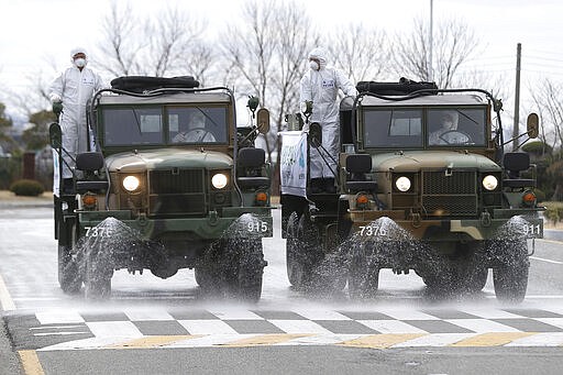
<svg viewBox="0 0 563 375">
<path fill-rule="evenodd" d="M 177 9 L 139 18 L 129 3 L 120 9 L 112 2 L 99 43 L 104 58 L 97 63 L 112 76 L 190 74 L 205 81 L 213 57 L 202 41 L 206 26 Z"/>
</svg>

